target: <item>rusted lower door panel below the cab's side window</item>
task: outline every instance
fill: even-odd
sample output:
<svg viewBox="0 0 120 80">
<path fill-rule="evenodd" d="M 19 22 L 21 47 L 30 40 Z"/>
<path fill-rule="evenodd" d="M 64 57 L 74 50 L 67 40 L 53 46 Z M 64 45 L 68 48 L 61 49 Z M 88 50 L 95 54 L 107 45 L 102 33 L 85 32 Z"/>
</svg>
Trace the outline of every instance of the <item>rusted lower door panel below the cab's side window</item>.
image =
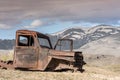
<svg viewBox="0 0 120 80">
<path fill-rule="evenodd" d="M 33 68 L 37 67 L 38 54 L 33 48 L 16 48 L 16 67 Z"/>
</svg>

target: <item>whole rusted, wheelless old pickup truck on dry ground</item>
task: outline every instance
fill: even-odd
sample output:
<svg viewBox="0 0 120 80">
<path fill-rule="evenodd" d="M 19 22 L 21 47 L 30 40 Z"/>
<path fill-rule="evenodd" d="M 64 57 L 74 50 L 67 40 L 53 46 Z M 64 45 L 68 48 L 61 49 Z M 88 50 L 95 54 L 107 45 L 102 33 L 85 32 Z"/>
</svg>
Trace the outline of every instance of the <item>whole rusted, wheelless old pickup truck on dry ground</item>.
<svg viewBox="0 0 120 80">
<path fill-rule="evenodd" d="M 62 51 L 62 44 L 69 43 L 70 49 Z M 71 69 L 83 71 L 85 64 L 82 52 L 73 52 L 71 39 L 58 39 L 55 47 L 47 35 L 36 31 L 16 31 L 13 61 L 0 61 L 0 67 L 28 70 L 54 71 Z M 64 47 L 64 46 L 63 46 Z"/>
</svg>

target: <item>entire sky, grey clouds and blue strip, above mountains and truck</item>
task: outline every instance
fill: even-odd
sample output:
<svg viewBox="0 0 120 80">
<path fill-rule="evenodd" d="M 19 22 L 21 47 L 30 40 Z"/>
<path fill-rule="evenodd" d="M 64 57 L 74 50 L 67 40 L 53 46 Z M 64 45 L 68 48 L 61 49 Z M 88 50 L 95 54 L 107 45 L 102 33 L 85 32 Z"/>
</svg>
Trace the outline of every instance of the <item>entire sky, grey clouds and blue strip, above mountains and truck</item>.
<svg viewBox="0 0 120 80">
<path fill-rule="evenodd" d="M 55 33 L 70 27 L 120 26 L 120 0 L 0 0 L 0 39 L 19 29 Z"/>
</svg>

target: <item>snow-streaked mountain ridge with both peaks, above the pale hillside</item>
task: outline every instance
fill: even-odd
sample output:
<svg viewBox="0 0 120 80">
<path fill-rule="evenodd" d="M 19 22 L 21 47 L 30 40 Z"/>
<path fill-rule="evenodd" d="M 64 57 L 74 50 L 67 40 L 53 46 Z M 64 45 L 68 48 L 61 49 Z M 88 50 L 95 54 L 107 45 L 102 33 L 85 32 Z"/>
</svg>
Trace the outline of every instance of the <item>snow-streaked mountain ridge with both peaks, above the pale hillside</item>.
<svg viewBox="0 0 120 80">
<path fill-rule="evenodd" d="M 58 33 L 52 34 L 52 38 L 69 38 L 74 41 L 74 49 L 78 49 L 87 43 L 120 33 L 120 28 L 98 25 L 89 29 L 70 28 Z"/>
</svg>

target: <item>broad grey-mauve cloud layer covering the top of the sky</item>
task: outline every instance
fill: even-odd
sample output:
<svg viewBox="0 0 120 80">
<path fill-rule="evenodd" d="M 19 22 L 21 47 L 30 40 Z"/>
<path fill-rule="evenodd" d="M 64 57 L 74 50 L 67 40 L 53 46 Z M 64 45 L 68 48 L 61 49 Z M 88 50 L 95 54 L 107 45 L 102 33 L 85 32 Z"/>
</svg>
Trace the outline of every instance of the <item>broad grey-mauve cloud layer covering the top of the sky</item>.
<svg viewBox="0 0 120 80">
<path fill-rule="evenodd" d="M 26 19 L 49 19 L 49 23 L 108 23 L 120 19 L 119 3 L 120 0 L 0 0 L 0 22 L 16 25 Z"/>
</svg>

